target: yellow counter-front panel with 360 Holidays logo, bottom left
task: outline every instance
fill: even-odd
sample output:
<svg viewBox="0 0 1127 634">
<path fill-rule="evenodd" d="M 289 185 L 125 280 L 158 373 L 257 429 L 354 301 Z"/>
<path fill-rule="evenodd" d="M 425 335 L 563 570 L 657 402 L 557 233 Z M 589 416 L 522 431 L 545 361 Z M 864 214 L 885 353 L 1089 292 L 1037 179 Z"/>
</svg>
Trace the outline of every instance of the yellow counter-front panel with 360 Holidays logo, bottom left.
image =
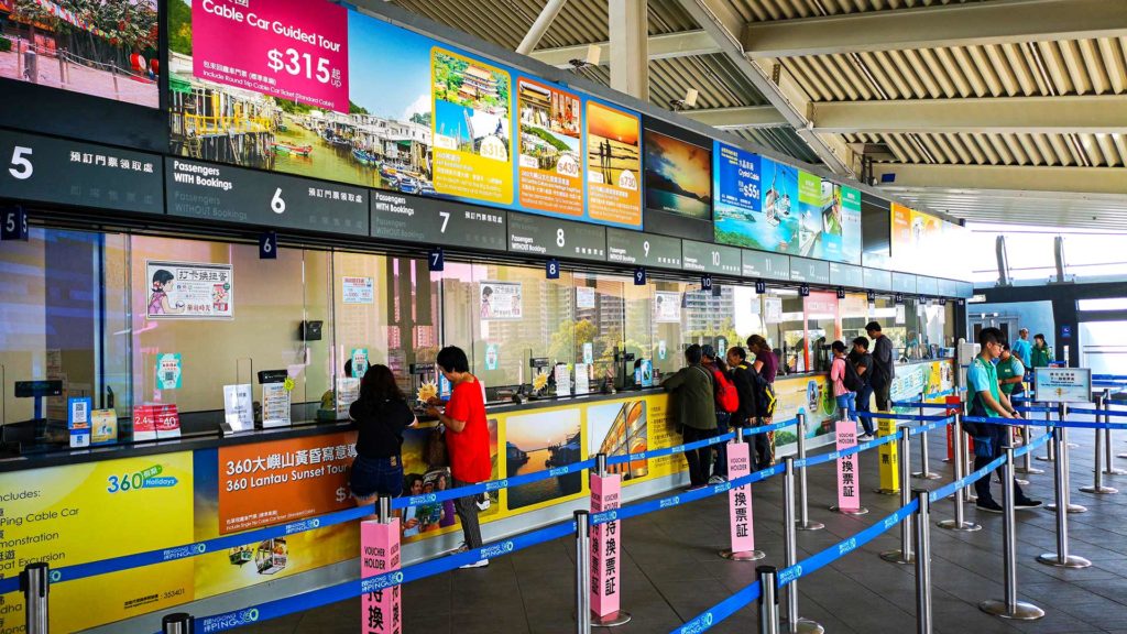
<svg viewBox="0 0 1127 634">
<path fill-rule="evenodd" d="M 0 571 L 52 567 L 192 541 L 192 452 L 123 458 L 0 475 Z M 18 592 L 3 607 L 23 606 Z M 61 583 L 51 589 L 51 631 L 74 632 L 193 599 L 192 560 Z M 23 632 L 24 613 L 0 610 L 0 632 Z"/>
</svg>

